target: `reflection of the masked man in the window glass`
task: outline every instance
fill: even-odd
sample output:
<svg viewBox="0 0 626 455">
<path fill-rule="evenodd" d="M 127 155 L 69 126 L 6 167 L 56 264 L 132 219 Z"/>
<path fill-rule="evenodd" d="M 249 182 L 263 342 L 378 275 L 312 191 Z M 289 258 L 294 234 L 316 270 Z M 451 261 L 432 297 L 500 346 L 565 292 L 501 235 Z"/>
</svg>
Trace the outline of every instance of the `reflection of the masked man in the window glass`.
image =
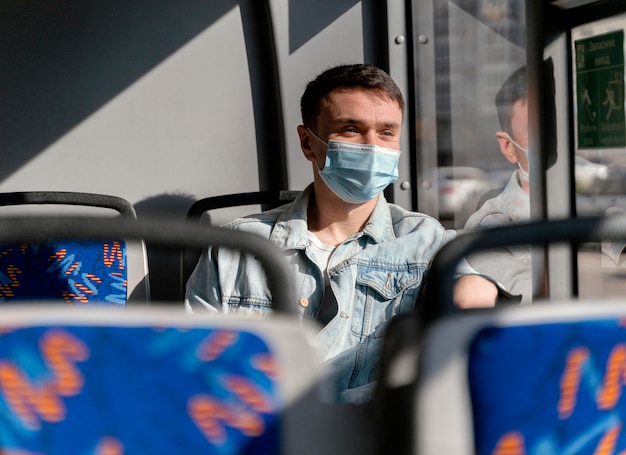
<svg viewBox="0 0 626 455">
<path fill-rule="evenodd" d="M 465 229 L 483 230 L 530 219 L 528 197 L 528 104 L 526 68 L 504 82 L 496 95 L 501 131 L 496 133 L 502 155 L 517 169 L 497 196 L 488 199 L 467 220 Z M 507 247 L 470 258 L 472 266 L 502 283 L 522 303 L 532 300 L 530 249 Z"/>
</svg>

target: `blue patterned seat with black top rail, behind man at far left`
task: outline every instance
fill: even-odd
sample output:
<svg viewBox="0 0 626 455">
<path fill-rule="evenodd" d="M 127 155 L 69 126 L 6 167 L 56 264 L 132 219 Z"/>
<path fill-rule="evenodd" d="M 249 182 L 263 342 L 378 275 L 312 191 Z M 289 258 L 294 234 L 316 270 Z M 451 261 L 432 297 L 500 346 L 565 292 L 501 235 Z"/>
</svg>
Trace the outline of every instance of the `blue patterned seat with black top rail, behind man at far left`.
<svg viewBox="0 0 626 455">
<path fill-rule="evenodd" d="M 136 219 L 130 202 L 116 196 L 81 192 L 0 193 L 2 213 L 10 207 L 29 214 L 72 213 L 75 206 L 106 209 Z M 42 206 L 47 206 L 42 208 Z M 75 209 L 74 209 L 75 211 Z M 18 213 L 22 213 L 18 212 Z M 63 300 L 70 304 L 146 303 L 149 280 L 142 240 L 0 239 L 0 302 Z"/>
</svg>

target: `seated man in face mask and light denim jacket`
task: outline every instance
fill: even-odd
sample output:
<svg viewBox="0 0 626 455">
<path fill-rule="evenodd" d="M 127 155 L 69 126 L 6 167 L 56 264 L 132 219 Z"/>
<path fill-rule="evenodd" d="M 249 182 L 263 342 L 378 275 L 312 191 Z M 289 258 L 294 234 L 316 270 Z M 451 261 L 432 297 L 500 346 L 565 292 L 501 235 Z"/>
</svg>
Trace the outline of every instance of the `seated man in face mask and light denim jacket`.
<svg viewBox="0 0 626 455">
<path fill-rule="evenodd" d="M 389 204 L 398 176 L 402 94 L 372 65 L 331 68 L 301 99 L 300 146 L 313 183 L 291 204 L 229 223 L 269 238 L 296 278 L 303 319 L 317 321 L 338 401 L 371 398 L 388 320 L 414 309 L 423 275 L 454 232 Z M 498 289 L 468 268 L 455 287 L 461 307 L 493 306 Z M 187 284 L 189 311 L 271 310 L 261 267 L 232 251 L 205 251 Z"/>
</svg>

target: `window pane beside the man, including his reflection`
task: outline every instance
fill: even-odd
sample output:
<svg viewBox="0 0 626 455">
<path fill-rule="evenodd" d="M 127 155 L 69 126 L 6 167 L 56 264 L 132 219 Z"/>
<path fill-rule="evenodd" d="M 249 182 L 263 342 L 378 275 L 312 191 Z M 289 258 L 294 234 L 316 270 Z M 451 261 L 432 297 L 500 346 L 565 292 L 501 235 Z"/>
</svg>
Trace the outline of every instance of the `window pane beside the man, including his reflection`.
<svg viewBox="0 0 626 455">
<path fill-rule="evenodd" d="M 525 7 L 522 0 L 436 1 L 432 41 L 430 24 L 414 17 L 418 210 L 448 228 L 530 219 Z M 532 301 L 529 248 L 469 259 Z"/>
</svg>

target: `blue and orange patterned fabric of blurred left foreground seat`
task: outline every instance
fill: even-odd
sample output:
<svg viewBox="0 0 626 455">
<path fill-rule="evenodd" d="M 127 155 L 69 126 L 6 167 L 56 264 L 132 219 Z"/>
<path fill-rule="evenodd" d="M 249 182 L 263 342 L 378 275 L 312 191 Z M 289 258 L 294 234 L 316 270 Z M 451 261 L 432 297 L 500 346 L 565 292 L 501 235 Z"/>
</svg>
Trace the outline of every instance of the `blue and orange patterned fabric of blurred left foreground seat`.
<svg viewBox="0 0 626 455">
<path fill-rule="evenodd" d="M 254 333 L 106 325 L 2 332 L 2 453 L 280 450 L 278 365 Z"/>
</svg>

